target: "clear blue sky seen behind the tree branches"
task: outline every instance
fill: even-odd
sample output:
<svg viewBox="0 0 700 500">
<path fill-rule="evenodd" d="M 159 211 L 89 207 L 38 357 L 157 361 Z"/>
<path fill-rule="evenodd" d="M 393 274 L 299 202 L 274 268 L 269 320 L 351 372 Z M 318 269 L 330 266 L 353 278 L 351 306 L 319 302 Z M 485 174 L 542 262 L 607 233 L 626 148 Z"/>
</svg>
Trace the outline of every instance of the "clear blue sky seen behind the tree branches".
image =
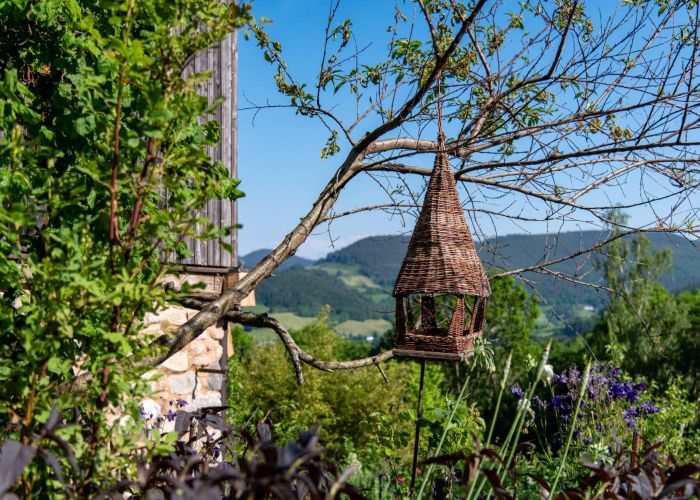
<svg viewBox="0 0 700 500">
<path fill-rule="evenodd" d="M 598 2 L 590 2 L 601 7 Z M 595 5 L 598 4 L 598 5 Z M 313 81 L 321 59 L 328 0 L 275 1 L 257 0 L 253 6 L 256 17 L 272 19 L 266 30 L 273 40 L 280 41 L 284 57 L 292 74 L 301 81 Z M 392 22 L 394 2 L 353 0 L 341 3 L 336 19 L 352 18 L 353 33 L 358 46 L 370 44 L 363 54 L 366 58 L 382 57 L 388 41 L 387 27 Z M 403 2 L 400 5 L 405 6 Z M 404 7 L 402 7 L 404 8 Z M 413 7 L 405 7 L 410 13 Z M 606 7 L 607 8 L 607 7 Z M 278 97 L 273 81 L 274 68 L 262 58 L 254 41 L 246 41 L 239 34 L 239 108 L 262 104 L 286 104 L 286 98 Z M 342 108 L 342 105 L 341 105 Z M 364 129 L 363 129 L 364 131 Z M 359 131 L 358 131 L 359 132 Z M 303 217 L 316 196 L 334 172 L 340 155 L 321 159 L 320 150 L 328 132 L 314 119 L 295 116 L 286 109 L 260 110 L 241 109 L 239 113 L 239 176 L 246 197 L 239 203 L 239 252 L 241 255 L 259 248 L 271 248 Z M 412 160 L 414 164 L 427 166 L 431 158 Z M 413 179 L 414 186 L 423 179 Z M 637 183 L 634 174 L 627 178 L 627 185 Z M 659 189 L 662 189 L 660 187 Z M 629 188 L 628 188 L 629 189 Z M 638 189 L 638 183 L 637 183 Z M 608 196 L 613 201 L 631 199 L 631 192 L 624 187 L 605 193 L 592 194 L 589 203 L 607 205 Z M 466 193 L 462 192 L 464 199 Z M 369 177 L 355 178 L 339 202 L 336 211 L 386 203 L 382 188 Z M 484 203 L 482 208 L 498 212 L 508 206 L 514 198 L 508 196 Z M 520 201 L 529 214 L 543 210 L 543 206 Z M 670 203 L 670 202 L 669 202 Z M 633 222 L 643 224 L 642 219 L 651 213 L 637 210 L 631 214 Z M 634 219 L 637 219 L 636 221 Z M 320 227 L 316 234 L 301 247 L 299 255 L 318 258 L 334 248 L 341 248 L 360 238 L 379 234 L 410 234 L 412 218 L 390 217 L 382 212 L 365 212 L 335 221 L 330 230 Z M 591 229 L 594 226 L 585 220 L 567 219 L 561 222 L 529 223 L 524 226 L 503 217 L 492 218 L 477 215 L 471 220 L 476 238 L 504 235 L 515 232 L 556 232 Z"/>
</svg>

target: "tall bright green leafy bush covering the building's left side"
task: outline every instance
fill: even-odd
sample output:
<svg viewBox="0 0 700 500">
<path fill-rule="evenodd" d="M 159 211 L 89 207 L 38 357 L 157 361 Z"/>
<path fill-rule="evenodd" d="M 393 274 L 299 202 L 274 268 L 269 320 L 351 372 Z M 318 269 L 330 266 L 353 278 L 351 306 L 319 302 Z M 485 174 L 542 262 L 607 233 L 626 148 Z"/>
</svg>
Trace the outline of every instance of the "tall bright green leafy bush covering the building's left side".
<svg viewBox="0 0 700 500">
<path fill-rule="evenodd" d="M 206 151 L 209 75 L 185 68 L 250 16 L 218 0 L 38 0 L 2 2 L 0 18 L 0 442 L 38 450 L 21 496 L 65 494 L 60 472 L 88 498 L 136 474 L 140 375 L 161 354 L 142 318 L 176 298 L 160 253 L 230 230 L 197 216 L 242 193 Z"/>
</svg>

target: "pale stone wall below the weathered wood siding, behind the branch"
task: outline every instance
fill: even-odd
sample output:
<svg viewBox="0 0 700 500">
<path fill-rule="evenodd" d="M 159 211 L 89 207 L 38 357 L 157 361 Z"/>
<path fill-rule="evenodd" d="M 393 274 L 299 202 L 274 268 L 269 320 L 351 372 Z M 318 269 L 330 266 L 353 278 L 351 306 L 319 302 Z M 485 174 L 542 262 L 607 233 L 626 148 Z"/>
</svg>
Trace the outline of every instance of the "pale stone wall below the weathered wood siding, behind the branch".
<svg viewBox="0 0 700 500">
<path fill-rule="evenodd" d="M 171 331 L 196 313 L 197 311 L 192 309 L 173 306 L 158 314 L 146 314 L 143 333 L 159 335 Z M 158 368 L 144 374 L 145 378 L 152 380 L 151 398 L 160 408 L 161 415 L 165 416 L 172 410 L 174 401 L 186 402 L 187 411 L 222 405 L 221 391 L 226 383 L 224 374 L 201 370 L 221 369 L 224 328 L 221 325 L 207 328 Z M 153 407 L 150 401 L 149 403 Z"/>
</svg>

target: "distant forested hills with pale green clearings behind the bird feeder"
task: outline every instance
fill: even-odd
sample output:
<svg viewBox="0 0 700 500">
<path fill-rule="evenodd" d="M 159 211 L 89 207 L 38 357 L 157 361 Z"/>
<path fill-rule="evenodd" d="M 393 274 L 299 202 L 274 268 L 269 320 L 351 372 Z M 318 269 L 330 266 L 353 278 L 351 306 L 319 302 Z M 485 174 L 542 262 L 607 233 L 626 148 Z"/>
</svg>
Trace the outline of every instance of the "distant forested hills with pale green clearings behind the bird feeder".
<svg viewBox="0 0 700 500">
<path fill-rule="evenodd" d="M 603 237 L 597 231 L 560 233 L 557 235 L 507 235 L 477 245 L 487 269 L 519 269 L 552 261 L 593 246 Z M 700 287 L 700 247 L 678 235 L 652 233 L 646 236 L 653 251 L 673 251 L 673 271 L 662 276 L 671 291 Z M 271 310 L 314 315 L 330 304 L 340 319 L 389 317 L 391 288 L 406 253 L 408 236 L 375 236 L 359 240 L 324 259 L 311 262 L 297 259 L 281 269 L 276 277 L 257 289 L 258 302 Z M 260 251 L 262 252 L 262 251 Z M 250 267 L 262 257 L 260 252 L 243 259 Z M 602 276 L 594 261 L 602 262 L 601 253 L 584 255 L 553 266 L 556 271 L 576 274 L 582 280 L 600 283 Z M 605 294 L 549 275 L 526 273 L 525 283 L 539 295 L 545 307 L 560 314 L 585 306 L 599 309 Z"/>
</svg>

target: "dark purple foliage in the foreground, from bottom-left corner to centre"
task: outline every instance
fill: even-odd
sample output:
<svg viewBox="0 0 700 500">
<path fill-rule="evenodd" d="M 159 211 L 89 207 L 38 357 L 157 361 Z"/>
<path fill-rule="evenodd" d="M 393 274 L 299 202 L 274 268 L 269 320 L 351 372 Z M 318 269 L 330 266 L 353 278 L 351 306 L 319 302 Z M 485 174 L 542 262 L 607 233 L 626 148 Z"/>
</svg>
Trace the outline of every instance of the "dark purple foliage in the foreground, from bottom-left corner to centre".
<svg viewBox="0 0 700 500">
<path fill-rule="evenodd" d="M 182 408 L 186 404 L 182 403 L 178 400 L 170 406 Z M 324 459 L 314 429 L 300 432 L 297 441 L 281 447 L 274 441 L 269 422 L 258 423 L 255 434 L 241 431 L 226 424 L 226 408 L 201 408 L 195 412 L 171 409 L 168 418 L 175 419 L 180 438 L 175 451 L 139 463 L 137 481 L 119 481 L 98 498 L 363 498 L 359 490 L 345 482 L 346 476 Z M 65 455 L 61 458 L 67 459 L 76 475 L 83 474 L 70 446 L 55 434 L 63 425 L 59 420 L 54 409 L 41 435 L 63 449 Z M 234 452 L 237 441 L 244 444 L 243 454 Z M 13 440 L 2 443 L 0 497 L 5 498 L 34 457 L 53 469 L 68 497 L 74 496 L 69 490 L 71 482 L 64 480 L 62 464 L 53 453 Z M 17 497 L 10 494 L 7 498 Z"/>
</svg>

